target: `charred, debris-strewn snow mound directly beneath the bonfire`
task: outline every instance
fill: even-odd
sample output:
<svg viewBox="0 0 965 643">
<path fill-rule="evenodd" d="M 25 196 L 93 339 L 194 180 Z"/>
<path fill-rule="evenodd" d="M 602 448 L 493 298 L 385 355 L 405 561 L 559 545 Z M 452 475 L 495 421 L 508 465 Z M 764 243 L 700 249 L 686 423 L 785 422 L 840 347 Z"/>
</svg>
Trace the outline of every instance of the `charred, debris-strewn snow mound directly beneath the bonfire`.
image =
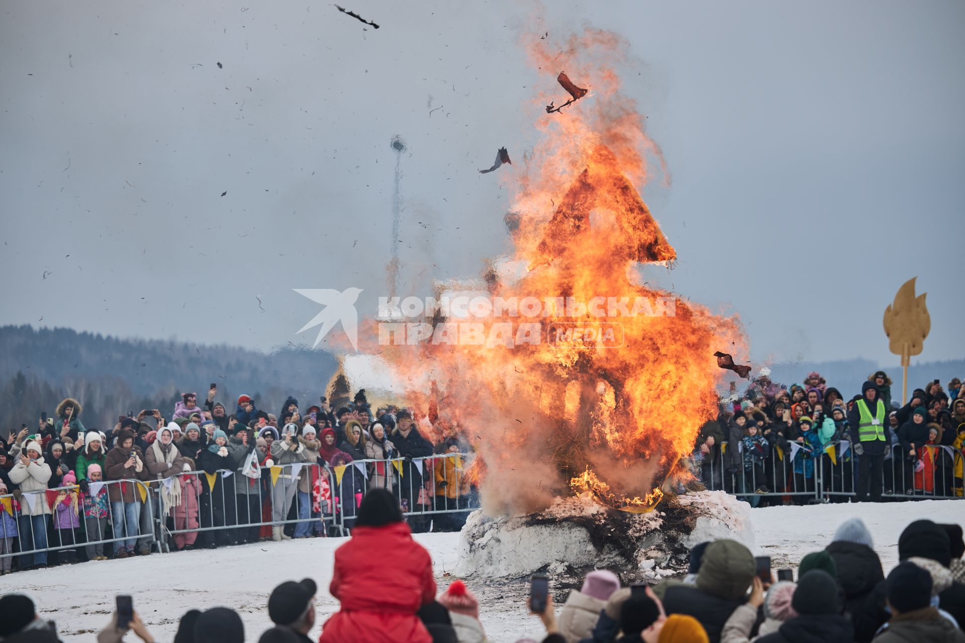
<svg viewBox="0 0 965 643">
<path fill-rule="evenodd" d="M 656 581 L 686 570 L 690 548 L 731 538 L 754 548 L 751 507 L 723 492 L 664 500 L 631 514 L 582 497 L 545 511 L 494 519 L 475 511 L 459 534 L 456 576 L 518 578 L 534 572 L 582 577 L 611 569 L 624 582 Z"/>
</svg>

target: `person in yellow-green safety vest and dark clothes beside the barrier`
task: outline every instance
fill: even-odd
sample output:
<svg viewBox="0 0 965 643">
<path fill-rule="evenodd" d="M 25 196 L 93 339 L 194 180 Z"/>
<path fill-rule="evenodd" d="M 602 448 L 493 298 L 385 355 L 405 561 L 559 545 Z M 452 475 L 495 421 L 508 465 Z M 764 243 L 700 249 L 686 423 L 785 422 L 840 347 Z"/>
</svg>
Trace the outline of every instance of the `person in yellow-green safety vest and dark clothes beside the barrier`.
<svg viewBox="0 0 965 643">
<path fill-rule="evenodd" d="M 855 499 L 864 502 L 870 494 L 872 502 L 880 502 L 885 458 L 892 450 L 892 430 L 888 425 L 888 410 L 878 399 L 874 383 L 865 382 L 861 395 L 848 412 L 851 444 L 858 456 Z"/>
</svg>

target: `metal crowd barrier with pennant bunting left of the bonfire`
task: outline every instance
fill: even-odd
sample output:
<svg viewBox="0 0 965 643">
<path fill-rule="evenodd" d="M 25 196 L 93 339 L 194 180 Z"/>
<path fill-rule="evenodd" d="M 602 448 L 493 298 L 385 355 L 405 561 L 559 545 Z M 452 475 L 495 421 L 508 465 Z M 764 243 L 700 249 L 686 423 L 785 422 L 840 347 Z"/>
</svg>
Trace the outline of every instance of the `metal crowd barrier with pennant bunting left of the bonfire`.
<svg viewBox="0 0 965 643">
<path fill-rule="evenodd" d="M 365 494 L 388 488 L 390 479 L 390 491 L 399 499 L 403 514 L 410 522 L 421 519 L 414 527 L 445 528 L 457 525 L 459 515 L 464 521 L 470 511 L 480 507 L 479 494 L 466 475 L 473 459 L 471 454 L 448 453 L 358 460 L 339 467 L 327 463 L 260 467 L 256 476 L 221 469 L 210 474 L 183 471 L 167 480 L 89 482 L 90 494 L 102 491 L 108 496 L 108 515 L 97 521 L 85 520 L 84 497 L 77 486 L 17 492 L 0 496 L 0 511 L 11 519 L 3 522 L 0 517 L 0 562 L 8 559 L 2 562 L 2 568 L 8 570 L 14 556 L 21 556 L 21 566 L 27 567 L 46 564 L 47 554 L 54 551 L 83 559 L 80 548 L 85 548 L 88 559 L 95 559 L 117 555 L 122 549 L 165 552 L 188 545 L 256 543 L 271 536 L 270 531 L 262 532 L 263 528 L 286 525 L 294 525 L 295 537 L 344 536 L 354 525 Z M 179 494 L 173 489 L 176 478 Z M 301 487 L 307 492 L 300 489 L 303 479 L 307 483 Z M 313 494 L 316 480 L 317 497 Z M 453 489 L 447 491 L 449 480 Z M 132 486 L 127 491 L 128 496 L 133 492 L 133 502 L 109 501 L 112 488 L 128 485 Z M 76 527 L 56 528 L 58 510 L 51 505 L 56 504 L 60 492 L 78 494 L 76 506 L 70 504 L 64 510 L 76 512 Z M 25 504 L 41 507 L 40 503 L 50 507 L 50 512 L 32 517 L 23 511 Z"/>
</svg>

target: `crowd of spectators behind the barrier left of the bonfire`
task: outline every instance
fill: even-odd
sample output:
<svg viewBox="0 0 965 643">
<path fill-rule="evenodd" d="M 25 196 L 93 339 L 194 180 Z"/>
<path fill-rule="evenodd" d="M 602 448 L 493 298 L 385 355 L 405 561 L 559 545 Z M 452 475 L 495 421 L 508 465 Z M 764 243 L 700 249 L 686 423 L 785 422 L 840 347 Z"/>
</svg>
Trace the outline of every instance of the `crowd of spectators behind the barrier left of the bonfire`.
<svg viewBox="0 0 965 643">
<path fill-rule="evenodd" d="M 334 411 L 323 397 L 304 411 L 289 397 L 278 415 L 240 395 L 229 414 L 216 396 L 199 405 L 186 392 L 170 420 L 146 409 L 106 432 L 85 427 L 67 398 L 0 439 L 0 554 L 22 552 L 0 557 L 0 574 L 150 555 L 161 541 L 215 549 L 326 537 L 336 524 L 342 535 L 373 489 L 397 496 L 416 531 L 465 522 L 456 509 L 476 495 L 457 456 L 466 445 L 429 442 L 408 410 L 372 413 L 363 390 Z"/>
</svg>

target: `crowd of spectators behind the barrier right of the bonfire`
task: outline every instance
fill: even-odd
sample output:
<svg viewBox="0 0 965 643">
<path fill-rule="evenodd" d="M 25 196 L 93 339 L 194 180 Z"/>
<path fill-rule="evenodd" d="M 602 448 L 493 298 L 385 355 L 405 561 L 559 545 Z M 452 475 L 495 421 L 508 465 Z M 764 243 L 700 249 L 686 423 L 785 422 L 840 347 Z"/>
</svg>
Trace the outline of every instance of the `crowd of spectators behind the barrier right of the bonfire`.
<svg viewBox="0 0 965 643">
<path fill-rule="evenodd" d="M 701 427 L 690 465 L 705 487 L 755 506 L 819 496 L 962 496 L 965 388 L 958 378 L 947 390 L 929 382 L 899 402 L 880 370 L 850 398 L 816 372 L 789 387 L 761 372 Z"/>
</svg>

